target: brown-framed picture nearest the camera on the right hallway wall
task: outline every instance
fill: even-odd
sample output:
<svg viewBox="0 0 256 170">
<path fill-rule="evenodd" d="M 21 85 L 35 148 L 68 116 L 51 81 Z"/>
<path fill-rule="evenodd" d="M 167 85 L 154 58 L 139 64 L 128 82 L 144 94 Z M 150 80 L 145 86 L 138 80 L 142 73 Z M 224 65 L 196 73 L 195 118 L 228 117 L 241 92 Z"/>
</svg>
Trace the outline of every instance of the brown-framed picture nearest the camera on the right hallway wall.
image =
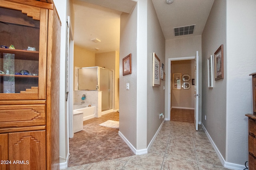
<svg viewBox="0 0 256 170">
<path fill-rule="evenodd" d="M 223 44 L 214 53 L 215 80 L 224 78 Z"/>
</svg>

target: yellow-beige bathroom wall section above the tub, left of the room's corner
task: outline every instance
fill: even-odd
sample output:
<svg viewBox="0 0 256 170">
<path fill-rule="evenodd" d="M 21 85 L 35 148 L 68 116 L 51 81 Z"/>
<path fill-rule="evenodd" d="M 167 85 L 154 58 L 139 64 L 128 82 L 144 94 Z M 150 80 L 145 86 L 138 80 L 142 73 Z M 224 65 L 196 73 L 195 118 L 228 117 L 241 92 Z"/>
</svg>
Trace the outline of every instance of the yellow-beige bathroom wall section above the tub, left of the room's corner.
<svg viewBox="0 0 256 170">
<path fill-rule="evenodd" d="M 74 45 L 74 68 L 95 66 L 95 53 Z"/>
</svg>

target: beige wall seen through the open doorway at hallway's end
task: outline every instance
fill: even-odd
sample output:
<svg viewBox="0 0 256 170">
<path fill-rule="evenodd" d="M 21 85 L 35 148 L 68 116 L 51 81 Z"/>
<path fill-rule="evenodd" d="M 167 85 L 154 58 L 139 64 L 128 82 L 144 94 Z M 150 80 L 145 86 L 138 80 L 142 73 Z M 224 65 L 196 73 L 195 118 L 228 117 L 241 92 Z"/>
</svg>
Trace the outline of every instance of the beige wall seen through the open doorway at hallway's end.
<svg viewBox="0 0 256 170">
<path fill-rule="evenodd" d="M 194 109 L 194 86 L 192 85 L 192 78 L 194 78 L 194 60 L 181 60 L 181 61 L 172 61 L 171 62 L 171 73 L 181 73 L 181 76 L 184 74 L 189 74 L 191 76 L 190 80 L 190 89 L 185 90 L 172 90 L 172 107 L 181 107 L 184 109 Z M 172 82 L 172 76 L 171 76 Z M 184 83 L 182 80 L 181 83 Z"/>
</svg>

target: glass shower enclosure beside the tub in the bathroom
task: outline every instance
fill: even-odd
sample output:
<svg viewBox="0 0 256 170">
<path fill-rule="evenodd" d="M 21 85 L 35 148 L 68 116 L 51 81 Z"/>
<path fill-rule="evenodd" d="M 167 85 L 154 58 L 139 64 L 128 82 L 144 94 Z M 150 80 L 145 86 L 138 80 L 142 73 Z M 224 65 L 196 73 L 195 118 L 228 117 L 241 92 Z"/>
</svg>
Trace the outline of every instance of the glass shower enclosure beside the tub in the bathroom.
<svg viewBox="0 0 256 170">
<path fill-rule="evenodd" d="M 102 91 L 102 111 L 113 109 L 113 76 L 99 66 L 78 68 L 78 90 Z"/>
</svg>

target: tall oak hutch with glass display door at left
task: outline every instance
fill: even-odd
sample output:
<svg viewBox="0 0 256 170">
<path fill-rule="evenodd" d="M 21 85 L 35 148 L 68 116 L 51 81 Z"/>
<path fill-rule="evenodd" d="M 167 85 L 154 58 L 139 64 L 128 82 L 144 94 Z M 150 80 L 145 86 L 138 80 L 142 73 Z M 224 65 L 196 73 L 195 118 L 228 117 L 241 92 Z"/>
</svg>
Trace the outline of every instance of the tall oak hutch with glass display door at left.
<svg viewBox="0 0 256 170">
<path fill-rule="evenodd" d="M 0 0 L 0 170 L 59 169 L 60 27 L 52 0 Z"/>
</svg>

